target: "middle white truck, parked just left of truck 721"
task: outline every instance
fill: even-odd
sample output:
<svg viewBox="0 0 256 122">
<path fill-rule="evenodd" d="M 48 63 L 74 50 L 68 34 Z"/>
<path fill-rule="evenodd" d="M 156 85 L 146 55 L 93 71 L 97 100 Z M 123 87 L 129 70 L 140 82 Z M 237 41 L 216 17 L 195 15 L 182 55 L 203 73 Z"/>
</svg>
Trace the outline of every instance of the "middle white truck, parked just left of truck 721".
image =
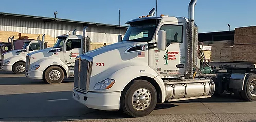
<svg viewBox="0 0 256 122">
<path fill-rule="evenodd" d="M 83 36 L 73 35 L 58 36 L 52 48 L 47 48 L 27 54 L 26 77 L 42 79 L 49 84 L 59 84 L 64 77 L 74 76 L 75 58 L 86 52 L 86 29 Z"/>
</svg>

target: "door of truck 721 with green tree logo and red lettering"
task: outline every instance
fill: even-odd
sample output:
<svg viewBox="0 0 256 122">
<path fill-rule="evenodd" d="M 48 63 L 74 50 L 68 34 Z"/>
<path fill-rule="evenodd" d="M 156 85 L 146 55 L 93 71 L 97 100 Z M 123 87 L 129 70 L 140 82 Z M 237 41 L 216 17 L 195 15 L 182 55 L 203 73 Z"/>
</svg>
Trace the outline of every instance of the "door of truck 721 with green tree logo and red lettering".
<svg viewBox="0 0 256 122">
<path fill-rule="evenodd" d="M 184 25 L 164 24 L 160 30 L 166 31 L 165 51 L 155 50 L 155 70 L 162 78 L 177 78 L 185 71 L 185 31 Z"/>
</svg>

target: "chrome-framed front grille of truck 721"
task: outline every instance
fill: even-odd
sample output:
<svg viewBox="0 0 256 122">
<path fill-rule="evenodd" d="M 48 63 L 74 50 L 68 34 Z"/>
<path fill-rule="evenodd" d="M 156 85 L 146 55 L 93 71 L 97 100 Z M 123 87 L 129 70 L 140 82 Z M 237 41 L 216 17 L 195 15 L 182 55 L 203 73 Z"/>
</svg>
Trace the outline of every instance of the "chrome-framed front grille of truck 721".
<svg viewBox="0 0 256 122">
<path fill-rule="evenodd" d="M 75 60 L 74 87 L 82 92 L 87 92 L 89 89 L 92 63 L 92 59 L 87 56 Z"/>
</svg>

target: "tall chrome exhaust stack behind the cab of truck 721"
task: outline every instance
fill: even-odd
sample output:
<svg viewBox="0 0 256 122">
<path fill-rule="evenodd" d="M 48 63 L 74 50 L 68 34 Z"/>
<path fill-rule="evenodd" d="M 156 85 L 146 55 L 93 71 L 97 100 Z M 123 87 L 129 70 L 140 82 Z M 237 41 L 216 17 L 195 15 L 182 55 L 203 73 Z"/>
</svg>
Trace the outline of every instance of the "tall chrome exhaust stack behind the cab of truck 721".
<svg viewBox="0 0 256 122">
<path fill-rule="evenodd" d="M 193 66 L 194 66 L 194 53 L 197 49 L 194 49 L 194 15 L 195 15 L 195 5 L 197 0 L 191 0 L 188 7 L 188 19 L 187 23 L 187 67 L 185 72 L 185 77 L 189 78 L 193 76 Z"/>
</svg>

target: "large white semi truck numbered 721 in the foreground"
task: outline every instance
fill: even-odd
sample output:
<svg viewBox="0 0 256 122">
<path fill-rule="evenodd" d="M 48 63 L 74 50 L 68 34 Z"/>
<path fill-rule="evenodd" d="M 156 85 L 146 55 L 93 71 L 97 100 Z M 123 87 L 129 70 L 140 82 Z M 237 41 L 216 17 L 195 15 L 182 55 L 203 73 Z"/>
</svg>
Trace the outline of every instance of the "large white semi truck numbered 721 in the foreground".
<svg viewBox="0 0 256 122">
<path fill-rule="evenodd" d="M 256 100 L 255 74 L 212 74 L 209 66 L 200 64 L 204 55 L 198 50 L 196 2 L 189 4 L 188 19 L 153 17 L 153 9 L 126 23 L 130 26 L 122 42 L 78 56 L 73 98 L 88 108 L 122 109 L 134 117 L 148 115 L 156 103 L 209 98 L 215 83 L 223 89 L 220 83 L 227 82 L 235 94 Z"/>
</svg>

